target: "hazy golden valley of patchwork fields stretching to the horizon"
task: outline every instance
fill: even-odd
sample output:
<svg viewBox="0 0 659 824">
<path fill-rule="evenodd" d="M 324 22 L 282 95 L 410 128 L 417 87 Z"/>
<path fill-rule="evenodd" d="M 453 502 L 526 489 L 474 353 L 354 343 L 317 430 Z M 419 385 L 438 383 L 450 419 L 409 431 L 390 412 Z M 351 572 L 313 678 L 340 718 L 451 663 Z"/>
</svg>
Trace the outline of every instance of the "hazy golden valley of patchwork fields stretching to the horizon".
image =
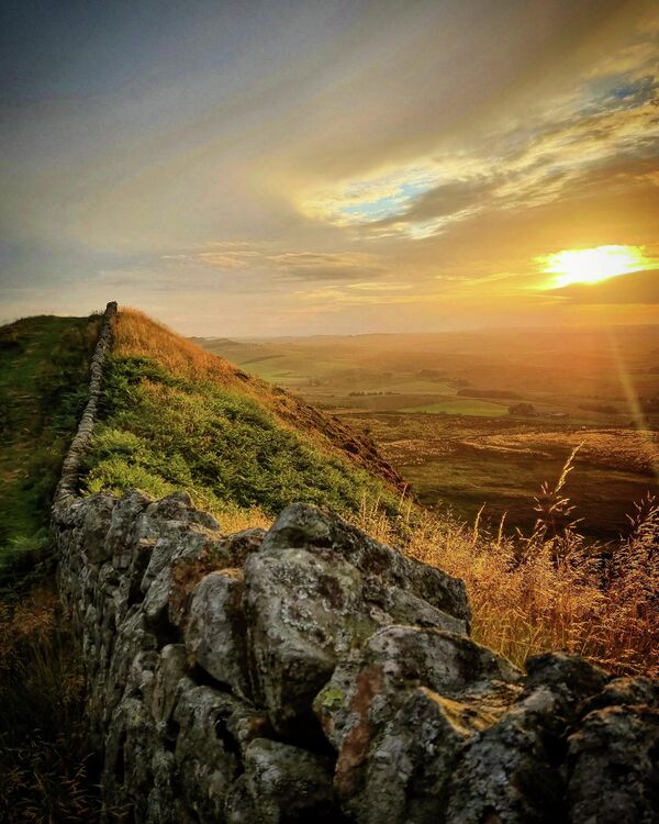
<svg viewBox="0 0 659 824">
<path fill-rule="evenodd" d="M 530 528 L 580 445 L 584 534 L 616 537 L 659 492 L 659 327 L 198 343 L 370 434 L 429 508 Z"/>
</svg>

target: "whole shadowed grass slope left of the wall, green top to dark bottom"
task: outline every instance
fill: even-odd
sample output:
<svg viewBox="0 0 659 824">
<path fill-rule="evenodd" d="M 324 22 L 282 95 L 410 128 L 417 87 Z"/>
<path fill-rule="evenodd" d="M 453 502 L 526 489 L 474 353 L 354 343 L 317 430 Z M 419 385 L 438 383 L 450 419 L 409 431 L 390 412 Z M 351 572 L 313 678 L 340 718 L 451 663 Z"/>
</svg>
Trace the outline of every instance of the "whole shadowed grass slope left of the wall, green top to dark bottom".
<svg viewBox="0 0 659 824">
<path fill-rule="evenodd" d="M 53 492 L 88 397 L 99 319 L 0 329 L 0 821 L 98 820 L 77 642 L 59 612 Z"/>
</svg>

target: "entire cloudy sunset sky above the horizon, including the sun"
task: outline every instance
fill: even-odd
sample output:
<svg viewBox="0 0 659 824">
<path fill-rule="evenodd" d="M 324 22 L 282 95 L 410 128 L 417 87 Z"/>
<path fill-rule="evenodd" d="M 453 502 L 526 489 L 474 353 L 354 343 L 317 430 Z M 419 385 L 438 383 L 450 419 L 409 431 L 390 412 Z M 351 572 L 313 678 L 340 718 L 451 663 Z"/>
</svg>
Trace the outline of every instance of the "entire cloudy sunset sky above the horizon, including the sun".
<svg viewBox="0 0 659 824">
<path fill-rule="evenodd" d="M 4 0 L 0 78 L 0 322 L 659 322 L 655 2 Z"/>
</svg>

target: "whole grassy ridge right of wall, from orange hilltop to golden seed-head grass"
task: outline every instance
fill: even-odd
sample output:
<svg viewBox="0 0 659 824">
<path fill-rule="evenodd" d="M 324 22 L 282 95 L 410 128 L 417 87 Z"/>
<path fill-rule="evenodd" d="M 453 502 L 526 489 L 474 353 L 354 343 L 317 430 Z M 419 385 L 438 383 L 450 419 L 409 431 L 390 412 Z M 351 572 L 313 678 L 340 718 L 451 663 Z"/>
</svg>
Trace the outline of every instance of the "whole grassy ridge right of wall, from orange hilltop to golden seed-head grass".
<svg viewBox="0 0 659 824">
<path fill-rule="evenodd" d="M 118 316 L 105 387 L 90 491 L 187 489 L 230 528 L 292 500 L 331 506 L 463 578 L 474 636 L 515 664 L 567 649 L 616 672 L 659 672 L 659 509 L 647 499 L 616 544 L 585 541 L 566 495 L 578 449 L 538 495 L 529 531 L 506 535 L 503 521 L 492 533 L 480 515 L 471 526 L 401 500 L 348 463 L 309 408 L 137 313 Z"/>
</svg>

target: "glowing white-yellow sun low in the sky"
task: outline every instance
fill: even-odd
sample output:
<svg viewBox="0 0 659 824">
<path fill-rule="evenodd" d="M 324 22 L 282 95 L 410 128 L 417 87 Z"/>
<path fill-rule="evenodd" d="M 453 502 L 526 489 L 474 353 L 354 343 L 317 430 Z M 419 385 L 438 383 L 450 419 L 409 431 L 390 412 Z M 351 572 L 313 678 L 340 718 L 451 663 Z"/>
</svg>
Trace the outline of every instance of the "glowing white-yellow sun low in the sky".
<svg viewBox="0 0 659 824">
<path fill-rule="evenodd" d="M 650 263 L 643 246 L 596 246 L 592 249 L 562 249 L 538 258 L 543 271 L 555 277 L 548 289 L 571 283 L 597 283 L 616 275 L 646 269 Z"/>
</svg>

